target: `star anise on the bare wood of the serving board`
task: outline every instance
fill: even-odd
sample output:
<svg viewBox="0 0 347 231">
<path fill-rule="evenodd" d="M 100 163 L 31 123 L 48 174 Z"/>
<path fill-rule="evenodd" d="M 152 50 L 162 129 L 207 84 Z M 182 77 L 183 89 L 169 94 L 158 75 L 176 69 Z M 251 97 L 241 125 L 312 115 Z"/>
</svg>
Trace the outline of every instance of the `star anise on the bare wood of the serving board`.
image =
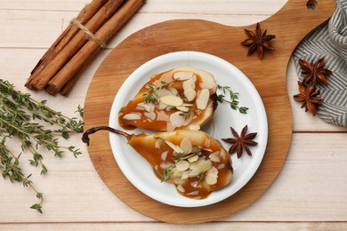
<svg viewBox="0 0 347 231">
<path fill-rule="evenodd" d="M 262 29 L 260 28 L 259 22 L 256 24 L 255 33 L 245 29 L 246 35 L 249 37 L 241 44 L 249 46 L 248 54 L 252 54 L 255 51 L 258 52 L 259 58 L 262 59 L 264 51 L 267 50 L 275 50 L 275 48 L 270 44 L 270 40 L 274 39 L 275 35 L 266 35 L 266 32 L 262 33 Z"/>
</svg>

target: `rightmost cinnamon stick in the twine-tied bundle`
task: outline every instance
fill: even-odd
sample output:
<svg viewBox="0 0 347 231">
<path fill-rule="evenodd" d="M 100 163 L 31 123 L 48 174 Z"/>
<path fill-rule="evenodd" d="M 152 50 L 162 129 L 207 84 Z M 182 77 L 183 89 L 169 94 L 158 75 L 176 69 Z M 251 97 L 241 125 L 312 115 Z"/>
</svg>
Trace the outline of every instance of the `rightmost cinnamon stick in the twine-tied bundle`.
<svg viewBox="0 0 347 231">
<path fill-rule="evenodd" d="M 96 33 L 95 36 L 101 41 L 108 41 L 119 28 L 121 28 L 127 20 L 131 18 L 134 12 L 144 4 L 145 0 L 127 0 L 120 9 L 113 15 Z M 61 68 L 60 72 L 52 78 L 48 83 L 47 92 L 55 94 L 61 90 L 61 88 L 73 80 L 80 68 L 83 67 L 85 61 L 98 51 L 100 44 L 93 40 L 89 40 L 75 55 L 69 60 L 69 62 Z M 66 91 L 66 89 L 65 89 Z"/>
</svg>

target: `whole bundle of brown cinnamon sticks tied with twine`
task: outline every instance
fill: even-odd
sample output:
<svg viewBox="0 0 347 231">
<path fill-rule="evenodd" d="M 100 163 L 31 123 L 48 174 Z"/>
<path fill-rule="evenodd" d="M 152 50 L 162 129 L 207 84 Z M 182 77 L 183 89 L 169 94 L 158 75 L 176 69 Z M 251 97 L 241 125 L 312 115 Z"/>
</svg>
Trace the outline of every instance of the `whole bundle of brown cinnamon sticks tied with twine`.
<svg viewBox="0 0 347 231">
<path fill-rule="evenodd" d="M 131 18 L 145 0 L 93 0 L 71 20 L 30 73 L 28 89 L 67 95 L 85 61 Z"/>
</svg>

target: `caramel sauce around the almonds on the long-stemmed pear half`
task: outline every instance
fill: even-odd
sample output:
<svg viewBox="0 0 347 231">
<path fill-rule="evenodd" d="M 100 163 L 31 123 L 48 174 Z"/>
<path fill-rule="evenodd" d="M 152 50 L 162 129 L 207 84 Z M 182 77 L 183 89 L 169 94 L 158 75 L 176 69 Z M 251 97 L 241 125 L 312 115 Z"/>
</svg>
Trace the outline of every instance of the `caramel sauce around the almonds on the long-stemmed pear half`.
<svg viewBox="0 0 347 231">
<path fill-rule="evenodd" d="M 183 137 L 186 137 L 186 132 L 198 132 L 204 133 L 203 139 L 191 140 L 194 146 L 205 148 L 201 149 L 199 158 L 209 158 L 211 153 L 220 151 L 221 155 L 219 163 L 213 163 L 213 166 L 218 170 L 217 183 L 214 185 L 208 185 L 205 181 L 206 172 L 203 175 L 196 177 L 190 177 L 188 179 L 175 178 L 171 175 L 169 182 L 177 185 L 181 185 L 184 188 L 184 192 L 177 190 L 178 193 L 192 199 L 204 199 L 211 194 L 212 191 L 225 187 L 230 183 L 232 176 L 232 167 L 230 163 L 230 155 L 221 146 L 221 144 L 209 137 L 203 131 L 173 131 L 173 132 L 159 132 L 153 135 L 136 135 L 129 140 L 129 144 L 141 154 L 147 162 L 153 167 L 155 175 L 159 180 L 163 179 L 165 168 L 175 163 L 177 157 L 173 155 L 173 148 L 163 142 L 170 141 L 173 144 L 179 146 Z M 158 143 L 159 142 L 159 143 Z M 156 144 L 157 143 L 157 144 Z M 159 145 L 158 145 L 159 144 Z M 210 150 L 206 150 L 210 149 Z M 166 153 L 165 160 L 163 160 L 163 153 Z"/>
</svg>

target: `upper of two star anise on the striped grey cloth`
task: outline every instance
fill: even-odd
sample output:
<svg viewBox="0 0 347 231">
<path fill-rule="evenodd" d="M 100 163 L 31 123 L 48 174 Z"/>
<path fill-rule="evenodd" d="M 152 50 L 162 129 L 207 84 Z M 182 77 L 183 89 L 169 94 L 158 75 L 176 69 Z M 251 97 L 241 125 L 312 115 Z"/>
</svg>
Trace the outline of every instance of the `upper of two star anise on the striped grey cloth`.
<svg viewBox="0 0 347 231">
<path fill-rule="evenodd" d="M 324 57 L 318 60 L 316 64 L 308 62 L 306 60 L 299 60 L 300 66 L 303 68 L 302 74 L 305 75 L 303 78 L 303 84 L 324 84 L 327 85 L 327 75 L 331 75 L 332 72 L 327 68 L 323 68 Z"/>
</svg>

